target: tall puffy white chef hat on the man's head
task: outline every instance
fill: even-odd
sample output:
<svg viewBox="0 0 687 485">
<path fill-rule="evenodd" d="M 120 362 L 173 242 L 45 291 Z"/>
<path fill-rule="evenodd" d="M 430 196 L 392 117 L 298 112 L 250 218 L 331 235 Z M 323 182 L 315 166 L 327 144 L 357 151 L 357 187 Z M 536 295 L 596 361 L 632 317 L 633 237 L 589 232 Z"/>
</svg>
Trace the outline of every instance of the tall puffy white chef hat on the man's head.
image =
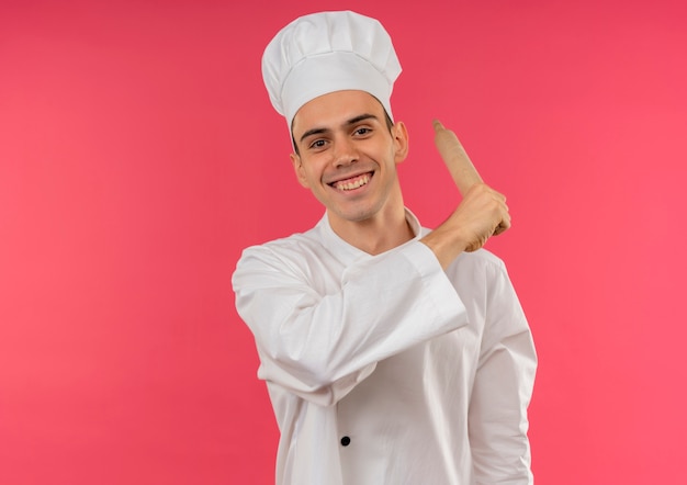
<svg viewBox="0 0 687 485">
<path fill-rule="evenodd" d="M 290 127 L 308 101 L 348 89 L 369 92 L 392 117 L 390 99 L 399 74 L 401 64 L 382 24 L 350 11 L 294 20 L 262 56 L 264 86 Z"/>
</svg>

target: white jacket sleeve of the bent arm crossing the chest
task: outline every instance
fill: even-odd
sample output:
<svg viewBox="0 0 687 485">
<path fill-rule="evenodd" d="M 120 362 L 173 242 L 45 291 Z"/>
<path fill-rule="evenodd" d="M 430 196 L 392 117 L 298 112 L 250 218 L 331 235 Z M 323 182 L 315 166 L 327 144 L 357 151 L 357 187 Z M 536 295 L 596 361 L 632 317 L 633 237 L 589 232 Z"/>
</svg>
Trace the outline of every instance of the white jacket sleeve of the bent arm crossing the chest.
<svg viewBox="0 0 687 485">
<path fill-rule="evenodd" d="M 294 258 L 248 248 L 233 284 L 256 339 L 259 377 L 307 401 L 333 405 L 378 361 L 466 323 L 463 303 L 421 243 L 351 264 L 327 291 Z"/>
</svg>

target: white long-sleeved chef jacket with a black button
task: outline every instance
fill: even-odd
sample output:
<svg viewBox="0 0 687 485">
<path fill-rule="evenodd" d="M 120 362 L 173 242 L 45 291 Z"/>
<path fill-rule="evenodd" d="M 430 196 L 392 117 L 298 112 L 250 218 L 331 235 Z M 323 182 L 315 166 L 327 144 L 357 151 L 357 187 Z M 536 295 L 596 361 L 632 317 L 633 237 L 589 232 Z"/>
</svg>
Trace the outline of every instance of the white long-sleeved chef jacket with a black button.
<svg viewBox="0 0 687 485">
<path fill-rule="evenodd" d="M 537 357 L 502 260 L 368 255 L 325 215 L 233 275 L 281 432 L 278 485 L 530 484 Z"/>
</svg>

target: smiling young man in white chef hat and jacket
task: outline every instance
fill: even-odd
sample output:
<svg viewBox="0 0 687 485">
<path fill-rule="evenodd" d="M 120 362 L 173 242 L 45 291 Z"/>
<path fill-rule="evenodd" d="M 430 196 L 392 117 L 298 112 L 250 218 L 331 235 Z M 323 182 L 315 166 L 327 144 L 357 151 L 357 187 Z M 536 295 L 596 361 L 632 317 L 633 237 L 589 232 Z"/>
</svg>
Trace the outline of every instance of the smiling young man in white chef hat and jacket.
<svg viewBox="0 0 687 485">
<path fill-rule="evenodd" d="M 404 206 L 401 66 L 375 20 L 300 18 L 262 69 L 296 178 L 326 208 L 246 249 L 233 278 L 281 431 L 277 483 L 531 483 L 534 348 L 504 263 L 480 249 L 509 226 L 504 196 L 478 183 L 433 232 Z"/>
</svg>

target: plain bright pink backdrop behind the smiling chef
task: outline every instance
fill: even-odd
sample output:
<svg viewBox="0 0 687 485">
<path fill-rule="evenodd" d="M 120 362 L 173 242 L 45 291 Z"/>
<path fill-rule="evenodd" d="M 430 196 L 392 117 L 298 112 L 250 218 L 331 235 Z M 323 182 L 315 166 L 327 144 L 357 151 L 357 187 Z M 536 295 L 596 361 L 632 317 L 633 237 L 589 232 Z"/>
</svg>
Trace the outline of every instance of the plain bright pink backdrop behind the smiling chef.
<svg viewBox="0 0 687 485">
<path fill-rule="evenodd" d="M 323 210 L 259 60 L 345 8 L 405 68 L 407 204 L 435 226 L 459 200 L 435 116 L 509 198 L 488 247 L 540 356 L 538 483 L 687 483 L 684 2 L 286 3 L 1 3 L 0 483 L 272 482 L 230 274 Z"/>
</svg>

